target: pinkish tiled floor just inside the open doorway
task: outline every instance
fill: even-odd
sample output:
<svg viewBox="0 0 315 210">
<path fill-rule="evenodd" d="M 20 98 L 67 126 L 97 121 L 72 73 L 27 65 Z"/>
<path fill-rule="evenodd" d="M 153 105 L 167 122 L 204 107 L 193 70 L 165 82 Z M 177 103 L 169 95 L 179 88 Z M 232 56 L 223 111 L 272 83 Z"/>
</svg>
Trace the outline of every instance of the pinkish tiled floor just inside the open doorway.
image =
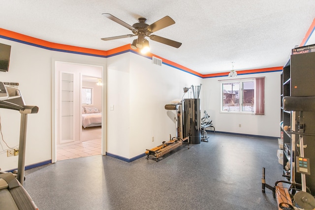
<svg viewBox="0 0 315 210">
<path fill-rule="evenodd" d="M 97 154 L 101 154 L 101 139 L 57 148 L 57 160 L 87 157 Z"/>
</svg>

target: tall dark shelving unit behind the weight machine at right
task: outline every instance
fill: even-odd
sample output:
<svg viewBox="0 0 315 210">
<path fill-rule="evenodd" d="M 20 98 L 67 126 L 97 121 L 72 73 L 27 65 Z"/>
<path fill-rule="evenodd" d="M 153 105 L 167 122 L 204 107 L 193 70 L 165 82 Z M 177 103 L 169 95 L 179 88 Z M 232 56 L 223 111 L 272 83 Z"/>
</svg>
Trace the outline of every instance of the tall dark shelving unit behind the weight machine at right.
<svg viewBox="0 0 315 210">
<path fill-rule="evenodd" d="M 296 172 L 295 160 L 299 156 L 300 135 L 289 134 L 284 126 L 298 131 L 299 112 L 285 111 L 283 98 L 285 96 L 315 96 L 315 45 L 295 48 L 290 60 L 285 64 L 281 75 L 281 131 L 284 133 L 284 177 L 290 182 L 301 183 L 301 174 Z M 315 134 L 315 112 L 303 112 L 305 133 Z M 306 175 L 306 185 L 315 195 L 315 136 L 303 135 L 304 156 L 310 158 L 311 175 Z M 288 170 L 288 167 L 290 168 Z"/>
</svg>

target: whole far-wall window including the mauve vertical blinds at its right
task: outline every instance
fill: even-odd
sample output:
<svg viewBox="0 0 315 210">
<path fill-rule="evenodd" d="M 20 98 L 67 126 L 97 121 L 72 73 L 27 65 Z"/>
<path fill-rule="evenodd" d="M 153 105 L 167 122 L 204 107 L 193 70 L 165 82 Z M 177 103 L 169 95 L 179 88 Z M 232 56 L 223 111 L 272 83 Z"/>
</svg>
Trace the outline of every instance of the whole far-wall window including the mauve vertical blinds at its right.
<svg viewBox="0 0 315 210">
<path fill-rule="evenodd" d="M 221 112 L 264 115 L 265 78 L 221 82 Z"/>
</svg>

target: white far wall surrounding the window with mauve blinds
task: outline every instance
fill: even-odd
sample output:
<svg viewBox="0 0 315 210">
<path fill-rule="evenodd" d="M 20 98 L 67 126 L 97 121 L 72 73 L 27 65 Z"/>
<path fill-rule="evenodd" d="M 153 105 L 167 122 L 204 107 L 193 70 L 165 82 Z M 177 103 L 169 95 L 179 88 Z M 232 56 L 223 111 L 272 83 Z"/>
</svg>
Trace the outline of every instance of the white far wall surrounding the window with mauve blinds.
<svg viewBox="0 0 315 210">
<path fill-rule="evenodd" d="M 228 77 L 203 79 L 204 109 L 218 131 L 280 137 L 280 76 L 281 72 L 240 75 L 237 79 L 265 77 L 265 115 L 220 113 L 221 92 L 219 80 Z M 241 124 L 241 127 L 239 127 Z"/>
</svg>

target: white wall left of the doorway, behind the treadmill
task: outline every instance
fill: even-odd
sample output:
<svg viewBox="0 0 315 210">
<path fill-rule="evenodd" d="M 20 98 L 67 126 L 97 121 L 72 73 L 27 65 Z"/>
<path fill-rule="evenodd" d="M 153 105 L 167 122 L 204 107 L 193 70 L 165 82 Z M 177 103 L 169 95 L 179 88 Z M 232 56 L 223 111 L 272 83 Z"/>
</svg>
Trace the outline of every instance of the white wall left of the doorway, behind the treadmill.
<svg viewBox="0 0 315 210">
<path fill-rule="evenodd" d="M 39 107 L 37 114 L 28 115 L 26 165 L 51 159 L 51 56 L 45 49 L 0 39 L 11 45 L 8 72 L 0 72 L 0 81 L 17 82 L 25 103 Z M 0 109 L 3 139 L 13 147 L 19 144 L 20 113 Z M 14 169 L 18 156 L 7 157 L 0 139 L 0 168 Z M 3 151 L 5 150 L 5 151 Z"/>
</svg>

